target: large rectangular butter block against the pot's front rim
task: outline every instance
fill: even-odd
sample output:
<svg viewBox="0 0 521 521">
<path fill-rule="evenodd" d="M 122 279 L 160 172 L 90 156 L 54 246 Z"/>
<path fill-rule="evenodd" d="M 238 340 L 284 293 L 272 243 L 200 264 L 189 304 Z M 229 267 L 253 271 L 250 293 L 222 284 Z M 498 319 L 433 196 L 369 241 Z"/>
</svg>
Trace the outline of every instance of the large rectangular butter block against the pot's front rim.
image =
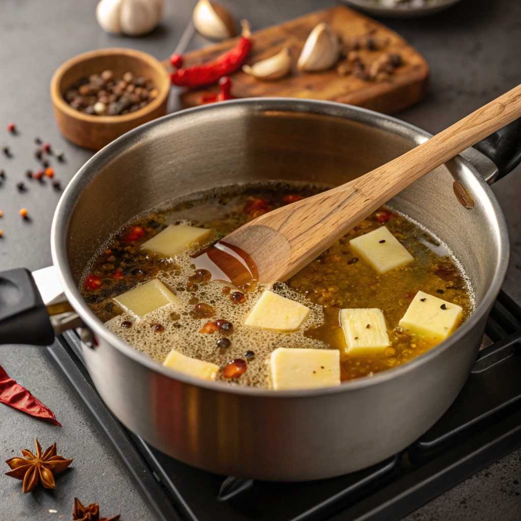
<svg viewBox="0 0 521 521">
<path fill-rule="evenodd" d="M 271 384 L 276 390 L 313 389 L 340 384 L 338 349 L 278 348 L 269 358 Z"/>
</svg>

